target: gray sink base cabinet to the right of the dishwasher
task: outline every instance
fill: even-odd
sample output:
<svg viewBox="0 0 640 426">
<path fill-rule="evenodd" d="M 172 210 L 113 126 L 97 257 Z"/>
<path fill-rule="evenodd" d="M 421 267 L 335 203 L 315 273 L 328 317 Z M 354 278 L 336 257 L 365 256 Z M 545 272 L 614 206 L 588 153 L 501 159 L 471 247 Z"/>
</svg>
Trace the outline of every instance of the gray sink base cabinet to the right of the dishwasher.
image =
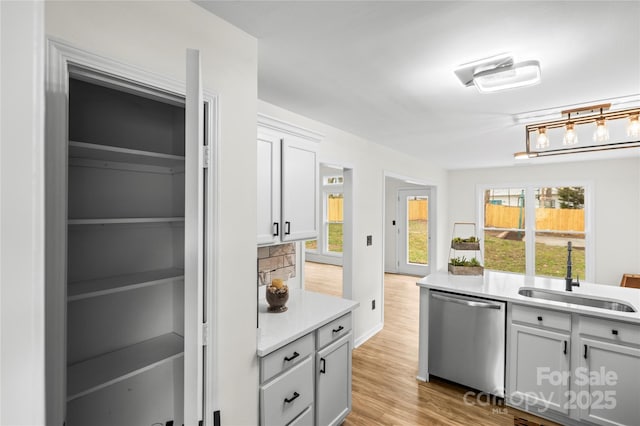
<svg viewBox="0 0 640 426">
<path fill-rule="evenodd" d="M 639 325 L 514 304 L 509 336 L 509 405 L 570 424 L 638 425 Z"/>
</svg>

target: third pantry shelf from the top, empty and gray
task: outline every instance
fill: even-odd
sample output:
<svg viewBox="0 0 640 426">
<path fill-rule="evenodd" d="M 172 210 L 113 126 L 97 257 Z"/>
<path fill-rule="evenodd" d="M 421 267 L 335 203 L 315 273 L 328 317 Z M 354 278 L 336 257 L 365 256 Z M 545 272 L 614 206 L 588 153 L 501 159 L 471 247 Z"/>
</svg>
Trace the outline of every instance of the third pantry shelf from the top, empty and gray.
<svg viewBox="0 0 640 426">
<path fill-rule="evenodd" d="M 69 283 L 67 300 L 71 302 L 89 297 L 104 296 L 120 291 L 165 284 L 178 279 L 184 279 L 184 269 L 159 269 L 96 280 L 78 281 Z"/>
</svg>

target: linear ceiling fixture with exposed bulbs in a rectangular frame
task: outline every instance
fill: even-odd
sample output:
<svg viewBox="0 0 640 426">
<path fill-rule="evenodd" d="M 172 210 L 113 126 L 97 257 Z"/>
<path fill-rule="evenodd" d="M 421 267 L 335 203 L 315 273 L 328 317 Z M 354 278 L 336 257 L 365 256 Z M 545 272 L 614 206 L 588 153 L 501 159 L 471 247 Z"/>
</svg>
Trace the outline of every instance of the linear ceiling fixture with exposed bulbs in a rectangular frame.
<svg viewBox="0 0 640 426">
<path fill-rule="evenodd" d="M 516 152 L 514 154 L 514 158 L 536 158 L 550 155 L 576 154 L 640 147 L 640 140 L 638 140 L 638 137 L 640 137 L 640 107 L 609 111 L 610 107 L 611 104 L 607 103 L 568 109 L 561 112 L 563 116 L 566 116 L 566 118 L 561 120 L 527 124 L 525 126 L 526 150 Z M 610 135 L 609 129 L 606 127 L 606 122 L 612 122 L 615 120 L 629 120 L 626 134 L 627 137 L 634 139 L 624 140 L 623 136 L 621 141 L 609 142 Z M 593 135 L 593 140 L 596 144 L 589 146 L 577 145 L 577 126 L 584 124 L 590 124 L 593 126 L 594 123 L 596 124 L 596 132 Z M 549 129 L 559 129 L 563 127 L 565 128 L 564 137 L 562 139 L 564 147 L 552 147 L 551 149 L 548 149 L 551 146 L 551 140 L 548 133 Z M 531 149 L 531 134 L 535 133 L 537 133 L 538 136 L 536 138 L 536 150 L 534 151 Z"/>
</svg>

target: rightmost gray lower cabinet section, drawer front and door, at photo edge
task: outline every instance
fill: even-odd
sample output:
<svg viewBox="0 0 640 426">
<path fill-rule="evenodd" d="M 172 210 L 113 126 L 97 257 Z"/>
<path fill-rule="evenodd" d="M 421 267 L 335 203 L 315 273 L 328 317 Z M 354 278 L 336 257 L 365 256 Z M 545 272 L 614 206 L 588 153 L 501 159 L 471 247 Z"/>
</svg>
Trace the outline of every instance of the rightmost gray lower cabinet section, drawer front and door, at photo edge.
<svg viewBox="0 0 640 426">
<path fill-rule="evenodd" d="M 600 425 L 640 421 L 640 327 L 580 317 L 578 385 L 572 401 L 580 419 Z"/>
</svg>

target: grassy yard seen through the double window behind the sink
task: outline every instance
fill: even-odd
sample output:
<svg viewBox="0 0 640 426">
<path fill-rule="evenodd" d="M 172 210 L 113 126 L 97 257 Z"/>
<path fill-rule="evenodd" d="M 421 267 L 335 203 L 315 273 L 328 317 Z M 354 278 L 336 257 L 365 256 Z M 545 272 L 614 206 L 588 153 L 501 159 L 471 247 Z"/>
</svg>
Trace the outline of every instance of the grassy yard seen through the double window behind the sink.
<svg viewBox="0 0 640 426">
<path fill-rule="evenodd" d="M 505 240 L 485 234 L 484 263 L 487 269 L 499 271 L 525 272 L 524 242 Z M 571 252 L 573 277 L 584 278 L 585 261 L 584 250 L 574 249 Z M 536 243 L 536 275 L 549 277 L 564 277 L 567 273 L 566 246 L 553 246 Z"/>
</svg>

